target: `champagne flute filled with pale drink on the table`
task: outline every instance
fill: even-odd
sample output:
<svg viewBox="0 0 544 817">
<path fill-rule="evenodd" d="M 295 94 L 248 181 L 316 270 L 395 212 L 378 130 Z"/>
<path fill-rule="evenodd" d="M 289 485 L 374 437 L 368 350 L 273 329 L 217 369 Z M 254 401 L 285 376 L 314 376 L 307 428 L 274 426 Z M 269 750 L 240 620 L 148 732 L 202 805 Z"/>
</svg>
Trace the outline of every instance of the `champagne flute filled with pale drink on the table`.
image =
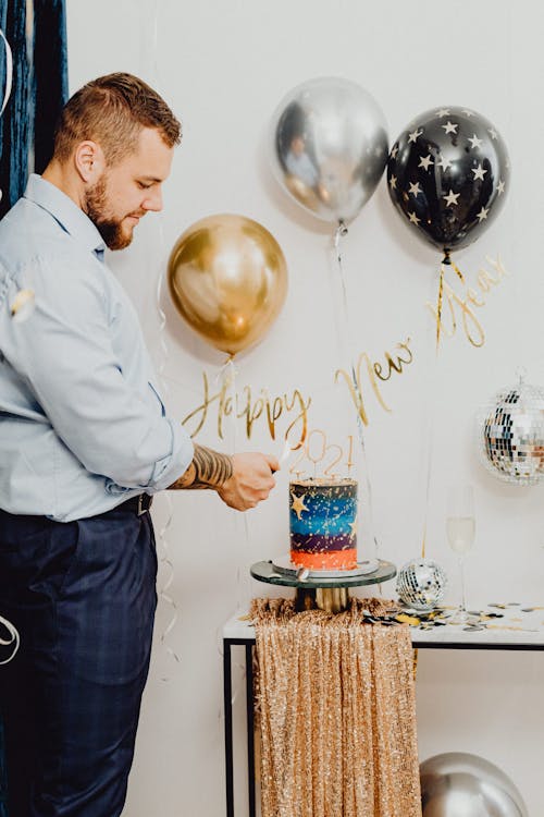
<svg viewBox="0 0 544 817">
<path fill-rule="evenodd" d="M 474 544 L 474 490 L 471 485 L 452 486 L 447 492 L 446 503 L 446 534 L 449 547 L 457 553 L 459 561 L 459 577 L 461 585 L 461 600 L 454 615 L 457 623 L 468 620 L 465 596 L 465 557 Z"/>
</svg>

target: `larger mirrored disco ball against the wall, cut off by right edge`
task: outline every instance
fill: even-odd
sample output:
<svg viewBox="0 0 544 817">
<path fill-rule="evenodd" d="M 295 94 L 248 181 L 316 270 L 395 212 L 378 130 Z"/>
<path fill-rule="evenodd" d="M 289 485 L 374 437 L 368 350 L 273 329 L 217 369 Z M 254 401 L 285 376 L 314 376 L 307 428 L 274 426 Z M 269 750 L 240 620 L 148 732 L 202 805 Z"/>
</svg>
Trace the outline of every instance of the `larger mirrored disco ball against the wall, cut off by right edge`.
<svg viewBox="0 0 544 817">
<path fill-rule="evenodd" d="M 482 406 L 478 452 L 487 471 L 504 481 L 544 481 L 544 389 L 520 379 Z"/>
</svg>

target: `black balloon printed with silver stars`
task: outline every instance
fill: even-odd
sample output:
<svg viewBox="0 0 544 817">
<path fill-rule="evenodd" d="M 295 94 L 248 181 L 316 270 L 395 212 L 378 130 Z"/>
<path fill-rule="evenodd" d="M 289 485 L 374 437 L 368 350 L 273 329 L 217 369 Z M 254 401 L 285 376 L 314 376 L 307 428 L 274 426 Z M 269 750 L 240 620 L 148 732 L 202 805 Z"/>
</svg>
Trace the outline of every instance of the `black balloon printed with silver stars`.
<svg viewBox="0 0 544 817">
<path fill-rule="evenodd" d="M 505 143 L 484 117 L 467 108 L 435 108 L 394 144 L 387 187 L 408 224 L 448 256 L 495 220 L 509 169 Z"/>
</svg>

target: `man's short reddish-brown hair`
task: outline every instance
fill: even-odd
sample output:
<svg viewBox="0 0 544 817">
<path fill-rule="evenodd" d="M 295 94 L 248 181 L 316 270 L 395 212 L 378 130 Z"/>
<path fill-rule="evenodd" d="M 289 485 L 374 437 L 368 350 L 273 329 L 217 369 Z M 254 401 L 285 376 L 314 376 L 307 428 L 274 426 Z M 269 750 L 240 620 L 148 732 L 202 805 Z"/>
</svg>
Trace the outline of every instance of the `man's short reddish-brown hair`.
<svg viewBox="0 0 544 817">
<path fill-rule="evenodd" d="M 181 142 L 182 126 L 149 85 L 132 74 L 99 76 L 64 106 L 54 134 L 54 158 L 66 161 L 81 142 L 100 145 L 109 166 L 136 150 L 143 127 L 154 127 L 169 147 Z"/>
</svg>

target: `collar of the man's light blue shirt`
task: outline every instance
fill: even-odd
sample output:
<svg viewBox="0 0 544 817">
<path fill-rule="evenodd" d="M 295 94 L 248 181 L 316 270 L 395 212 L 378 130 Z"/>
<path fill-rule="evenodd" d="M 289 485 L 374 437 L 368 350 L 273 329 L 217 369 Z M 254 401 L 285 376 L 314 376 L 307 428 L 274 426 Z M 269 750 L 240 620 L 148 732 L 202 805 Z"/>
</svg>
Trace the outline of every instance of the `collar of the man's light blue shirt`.
<svg viewBox="0 0 544 817">
<path fill-rule="evenodd" d="M 30 174 L 24 196 L 50 212 L 65 232 L 103 261 L 106 244 L 102 236 L 70 196 L 37 173 Z"/>
</svg>

